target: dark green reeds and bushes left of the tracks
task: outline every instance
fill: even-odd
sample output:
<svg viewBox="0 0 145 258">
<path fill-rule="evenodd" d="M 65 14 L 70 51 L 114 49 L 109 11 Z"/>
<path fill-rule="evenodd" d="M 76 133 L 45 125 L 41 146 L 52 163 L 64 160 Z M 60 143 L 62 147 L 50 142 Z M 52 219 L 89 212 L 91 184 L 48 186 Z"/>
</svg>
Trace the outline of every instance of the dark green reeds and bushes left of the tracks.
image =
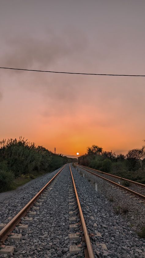
<svg viewBox="0 0 145 258">
<path fill-rule="evenodd" d="M 21 176 L 34 178 L 40 172 L 51 172 L 77 159 L 54 154 L 24 138 L 0 142 L 0 192 L 6 191 Z"/>
</svg>

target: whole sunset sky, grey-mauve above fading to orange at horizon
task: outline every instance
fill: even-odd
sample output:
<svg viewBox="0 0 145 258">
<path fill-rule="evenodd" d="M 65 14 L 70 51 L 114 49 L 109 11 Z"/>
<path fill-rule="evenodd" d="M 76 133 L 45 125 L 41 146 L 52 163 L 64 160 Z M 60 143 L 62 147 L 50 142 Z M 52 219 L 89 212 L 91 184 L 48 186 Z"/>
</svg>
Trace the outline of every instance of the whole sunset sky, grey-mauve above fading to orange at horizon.
<svg viewBox="0 0 145 258">
<path fill-rule="evenodd" d="M 145 74 L 144 0 L 0 0 L 0 66 Z M 0 69 L 0 140 L 76 157 L 126 154 L 145 138 L 145 77 Z"/>
</svg>

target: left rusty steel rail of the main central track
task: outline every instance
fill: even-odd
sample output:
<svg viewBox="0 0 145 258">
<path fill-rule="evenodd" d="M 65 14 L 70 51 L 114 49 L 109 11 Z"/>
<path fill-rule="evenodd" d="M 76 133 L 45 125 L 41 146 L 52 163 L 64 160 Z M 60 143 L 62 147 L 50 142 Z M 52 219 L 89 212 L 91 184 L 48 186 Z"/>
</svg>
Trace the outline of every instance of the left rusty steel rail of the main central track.
<svg viewBox="0 0 145 258">
<path fill-rule="evenodd" d="M 21 218 L 27 214 L 27 212 L 31 209 L 35 201 L 39 198 L 39 196 L 42 194 L 42 192 L 45 190 L 45 188 L 51 183 L 52 180 L 61 172 L 61 170 L 66 166 L 66 164 L 56 173 L 55 176 L 51 178 L 51 180 L 22 208 L 21 211 L 17 213 L 17 215 L 12 218 L 6 224 L 6 226 L 0 231 L 0 244 L 3 244 L 3 242 L 8 237 L 8 234 L 14 230 L 15 226 L 21 221 Z"/>
</svg>

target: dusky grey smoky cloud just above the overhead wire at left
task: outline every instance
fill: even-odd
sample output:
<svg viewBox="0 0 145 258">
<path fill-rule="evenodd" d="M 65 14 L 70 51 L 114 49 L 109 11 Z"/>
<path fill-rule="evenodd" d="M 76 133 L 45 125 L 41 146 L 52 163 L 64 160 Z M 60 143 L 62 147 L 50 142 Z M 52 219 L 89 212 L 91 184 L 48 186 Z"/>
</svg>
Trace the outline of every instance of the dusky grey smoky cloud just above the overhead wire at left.
<svg viewBox="0 0 145 258">
<path fill-rule="evenodd" d="M 67 32 L 62 35 L 46 32 L 43 38 L 25 35 L 5 36 L 5 54 L 1 54 L 1 64 L 14 68 L 32 68 L 33 66 L 46 68 L 57 63 L 60 59 L 82 52 L 84 34 L 78 31 Z M 82 44 L 83 43 L 83 44 Z M 63 70 L 63 69 L 62 69 Z M 18 73 L 18 71 L 16 71 Z"/>
</svg>

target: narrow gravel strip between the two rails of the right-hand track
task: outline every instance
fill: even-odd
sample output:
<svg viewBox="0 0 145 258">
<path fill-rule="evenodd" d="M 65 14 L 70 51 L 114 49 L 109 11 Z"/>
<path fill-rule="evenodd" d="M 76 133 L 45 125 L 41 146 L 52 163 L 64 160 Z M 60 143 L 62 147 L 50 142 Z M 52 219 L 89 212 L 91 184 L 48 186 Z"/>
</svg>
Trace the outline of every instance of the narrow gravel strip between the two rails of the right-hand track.
<svg viewBox="0 0 145 258">
<path fill-rule="evenodd" d="M 83 169 L 83 167 L 82 167 L 82 169 Z M 88 168 L 86 168 L 86 169 L 88 169 Z M 113 176 L 109 176 L 109 175 L 103 174 L 101 172 L 97 172 L 97 171 L 91 170 L 90 168 L 88 170 L 90 170 L 91 172 L 93 172 L 93 173 L 95 173 L 95 174 L 97 174 L 99 176 L 103 176 L 103 177 L 105 177 L 105 178 L 107 178 L 107 179 L 109 179 L 109 180 L 111 180 L 111 181 L 113 181 L 113 182 L 115 182 L 117 184 L 119 183 L 119 184 L 121 184 L 123 186 L 124 186 L 125 182 L 128 182 L 128 181 L 125 181 L 125 180 L 117 179 L 117 178 L 115 178 Z M 145 196 L 145 188 L 143 188 L 141 186 L 138 186 L 136 184 L 132 184 L 132 183 L 129 183 L 129 184 L 130 184 L 129 186 L 125 186 L 125 187 L 127 187 L 128 189 L 131 189 L 132 191 L 138 192 L 138 193 L 140 193 L 140 194 Z"/>
</svg>

